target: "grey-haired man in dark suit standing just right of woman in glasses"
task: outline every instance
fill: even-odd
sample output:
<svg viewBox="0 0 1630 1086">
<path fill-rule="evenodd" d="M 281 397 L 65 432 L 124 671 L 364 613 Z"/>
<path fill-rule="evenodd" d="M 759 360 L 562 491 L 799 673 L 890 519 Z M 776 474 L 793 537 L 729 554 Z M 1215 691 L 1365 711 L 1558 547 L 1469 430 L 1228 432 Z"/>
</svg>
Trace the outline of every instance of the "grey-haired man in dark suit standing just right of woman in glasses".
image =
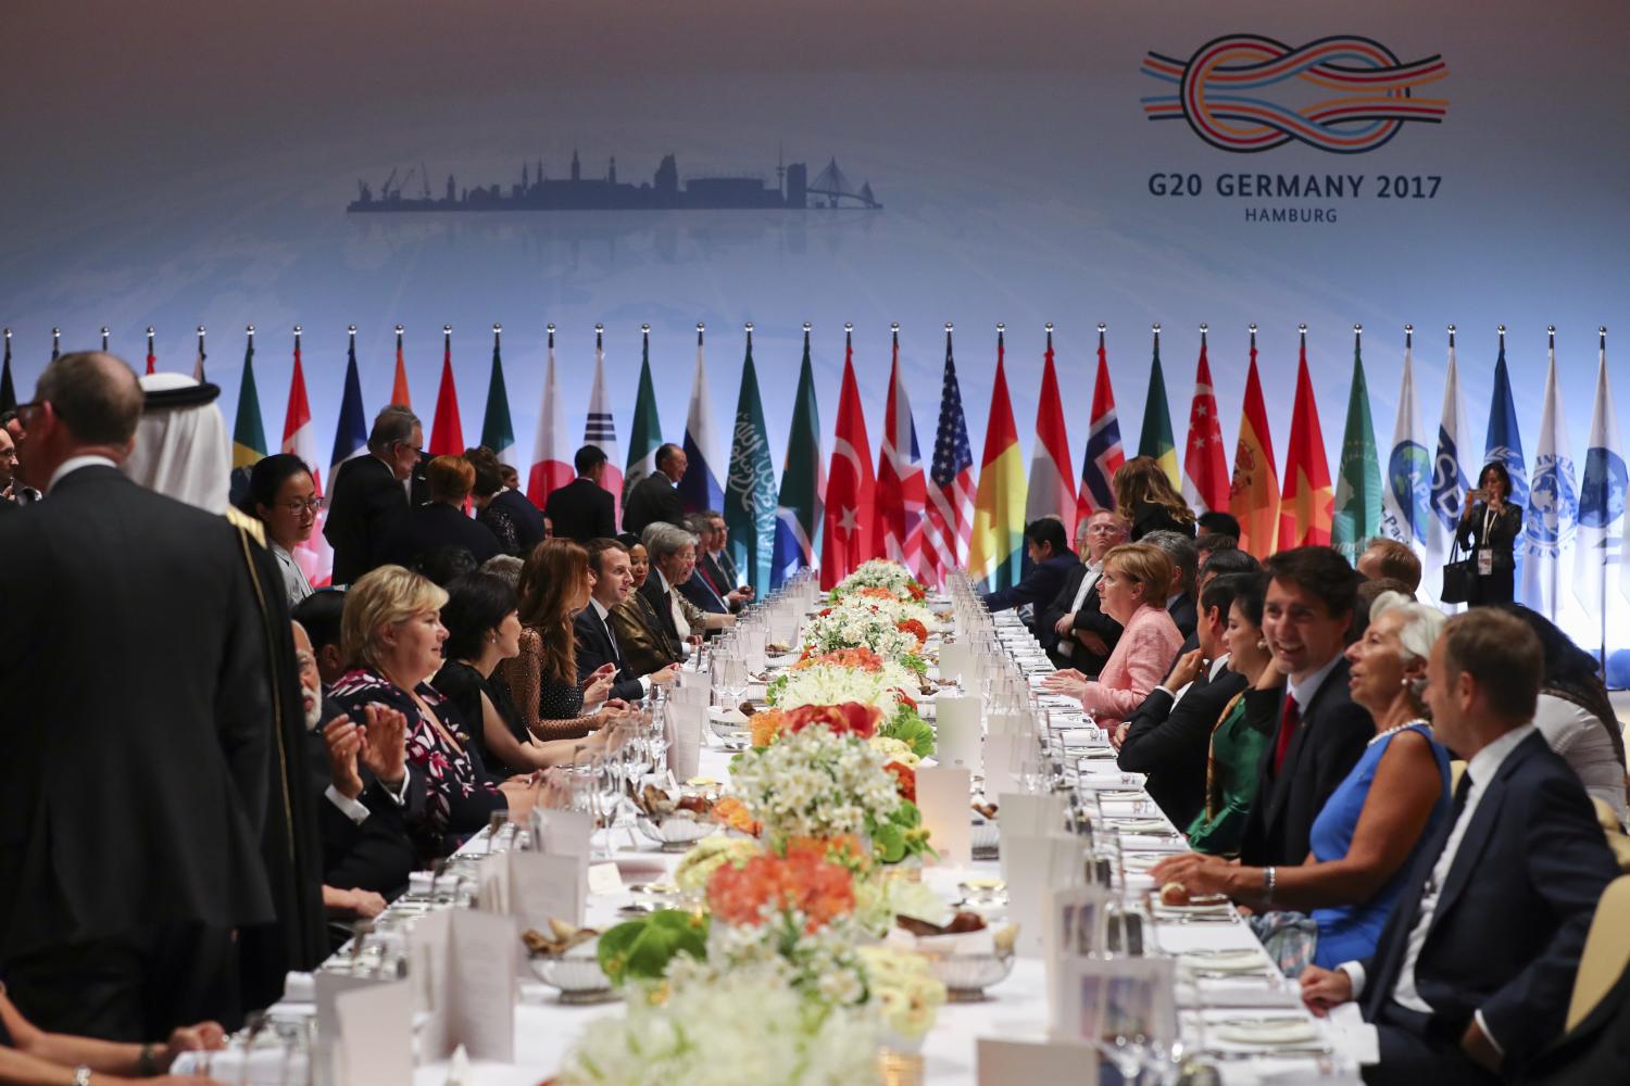
<svg viewBox="0 0 1630 1086">
<path fill-rule="evenodd" d="M 380 542 L 408 513 L 406 484 L 424 451 L 424 427 L 393 404 L 373 418 L 368 453 L 339 466 L 328 488 L 323 536 L 334 547 L 334 585 L 350 585 L 378 563 Z"/>
</svg>

